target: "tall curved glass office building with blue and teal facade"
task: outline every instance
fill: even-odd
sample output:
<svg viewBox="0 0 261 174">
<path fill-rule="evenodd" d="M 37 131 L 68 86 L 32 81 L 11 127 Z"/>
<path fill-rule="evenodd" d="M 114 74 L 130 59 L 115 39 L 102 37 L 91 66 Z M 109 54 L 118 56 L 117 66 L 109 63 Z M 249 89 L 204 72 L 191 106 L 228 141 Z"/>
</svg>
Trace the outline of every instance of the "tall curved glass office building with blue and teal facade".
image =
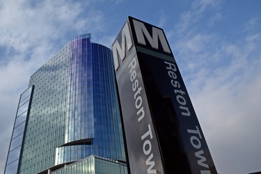
<svg viewBox="0 0 261 174">
<path fill-rule="evenodd" d="M 125 161 L 111 49 L 80 35 L 31 76 L 5 173 L 127 173 Z"/>
</svg>

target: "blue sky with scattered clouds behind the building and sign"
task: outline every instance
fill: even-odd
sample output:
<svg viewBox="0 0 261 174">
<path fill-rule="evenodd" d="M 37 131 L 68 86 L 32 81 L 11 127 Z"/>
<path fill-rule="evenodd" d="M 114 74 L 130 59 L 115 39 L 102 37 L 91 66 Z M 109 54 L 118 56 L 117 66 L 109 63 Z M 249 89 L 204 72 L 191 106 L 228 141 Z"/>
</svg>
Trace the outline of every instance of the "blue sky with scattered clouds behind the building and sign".
<svg viewBox="0 0 261 174">
<path fill-rule="evenodd" d="M 260 0 L 0 0 L 0 173 L 19 95 L 69 40 L 111 48 L 128 16 L 164 29 L 220 174 L 261 171 Z"/>
</svg>

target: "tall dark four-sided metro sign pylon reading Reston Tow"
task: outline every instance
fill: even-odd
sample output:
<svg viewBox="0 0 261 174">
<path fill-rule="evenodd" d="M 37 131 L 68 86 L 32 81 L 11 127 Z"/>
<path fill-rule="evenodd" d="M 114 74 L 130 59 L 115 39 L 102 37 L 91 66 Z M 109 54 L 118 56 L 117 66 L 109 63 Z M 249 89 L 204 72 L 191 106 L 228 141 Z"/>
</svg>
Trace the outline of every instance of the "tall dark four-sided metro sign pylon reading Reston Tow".
<svg viewBox="0 0 261 174">
<path fill-rule="evenodd" d="M 128 17 L 113 59 L 131 173 L 217 173 L 162 29 Z"/>
</svg>

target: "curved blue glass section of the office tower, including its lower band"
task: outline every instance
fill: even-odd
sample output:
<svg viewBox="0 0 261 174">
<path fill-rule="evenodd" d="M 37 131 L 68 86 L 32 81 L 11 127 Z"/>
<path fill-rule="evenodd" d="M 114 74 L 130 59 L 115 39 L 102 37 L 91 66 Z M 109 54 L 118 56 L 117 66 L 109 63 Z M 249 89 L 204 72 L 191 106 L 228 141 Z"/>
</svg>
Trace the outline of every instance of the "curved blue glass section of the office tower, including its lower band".
<svg viewBox="0 0 261 174">
<path fill-rule="evenodd" d="M 125 160 L 111 50 L 80 35 L 70 43 L 65 146 L 56 164 L 100 155 Z"/>
</svg>

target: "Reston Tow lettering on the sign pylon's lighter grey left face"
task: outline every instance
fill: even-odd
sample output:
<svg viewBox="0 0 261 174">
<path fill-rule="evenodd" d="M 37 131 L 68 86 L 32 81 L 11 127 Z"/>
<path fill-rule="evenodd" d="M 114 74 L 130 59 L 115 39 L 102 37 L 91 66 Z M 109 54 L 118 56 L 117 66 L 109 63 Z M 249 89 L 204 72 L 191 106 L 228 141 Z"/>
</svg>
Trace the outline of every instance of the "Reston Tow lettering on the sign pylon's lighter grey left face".
<svg viewBox="0 0 261 174">
<path fill-rule="evenodd" d="M 136 58 L 134 57 L 132 61 L 128 65 L 129 68 L 129 79 L 132 81 L 132 91 L 134 92 L 134 100 L 135 100 L 135 107 L 136 107 L 136 116 L 138 122 L 143 120 L 145 116 L 145 111 L 143 109 L 142 97 L 141 93 L 143 92 L 141 86 L 139 86 L 139 80 L 136 79 Z M 156 169 L 152 169 L 155 166 L 155 161 L 153 160 L 153 153 L 152 153 L 152 143 L 151 139 L 153 139 L 152 131 L 150 128 L 150 124 L 148 124 L 148 131 L 145 132 L 141 136 L 141 141 L 143 141 L 143 153 L 144 155 L 148 156 L 146 159 L 145 164 L 148 166 L 147 173 L 157 173 Z"/>
</svg>

